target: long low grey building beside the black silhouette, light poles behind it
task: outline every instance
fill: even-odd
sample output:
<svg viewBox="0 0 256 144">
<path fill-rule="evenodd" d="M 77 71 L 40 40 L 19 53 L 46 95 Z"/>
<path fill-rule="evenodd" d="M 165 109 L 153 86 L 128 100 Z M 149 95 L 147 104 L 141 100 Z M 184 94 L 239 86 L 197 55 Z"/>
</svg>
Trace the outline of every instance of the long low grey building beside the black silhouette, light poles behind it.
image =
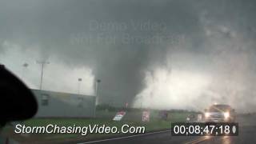
<svg viewBox="0 0 256 144">
<path fill-rule="evenodd" d="M 46 90 L 32 90 L 38 100 L 36 118 L 94 117 L 95 97 Z"/>
</svg>

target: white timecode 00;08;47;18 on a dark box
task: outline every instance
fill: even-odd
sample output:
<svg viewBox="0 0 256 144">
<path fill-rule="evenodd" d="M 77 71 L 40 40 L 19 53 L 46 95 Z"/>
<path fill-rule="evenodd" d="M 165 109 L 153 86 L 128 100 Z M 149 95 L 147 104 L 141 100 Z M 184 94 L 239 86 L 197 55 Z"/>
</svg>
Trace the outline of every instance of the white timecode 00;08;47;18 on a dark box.
<svg viewBox="0 0 256 144">
<path fill-rule="evenodd" d="M 237 136 L 238 123 L 235 122 L 174 122 L 172 136 Z"/>
</svg>

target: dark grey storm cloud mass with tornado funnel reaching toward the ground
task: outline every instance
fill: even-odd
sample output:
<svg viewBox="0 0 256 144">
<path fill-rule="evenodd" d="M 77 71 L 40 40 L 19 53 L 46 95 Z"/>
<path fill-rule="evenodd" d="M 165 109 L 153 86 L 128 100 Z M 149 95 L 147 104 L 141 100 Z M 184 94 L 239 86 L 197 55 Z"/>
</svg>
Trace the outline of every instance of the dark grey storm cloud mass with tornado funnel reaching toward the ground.
<svg viewBox="0 0 256 144">
<path fill-rule="evenodd" d="M 209 37 L 222 44 L 235 32 L 254 40 L 255 10 L 253 1 L 6 1 L 0 42 L 35 47 L 72 69 L 90 66 L 105 101 L 122 104 L 143 89 L 144 71 L 167 66 L 171 53 L 209 54 L 191 65 L 196 70 L 210 67 L 216 54 Z"/>
</svg>

